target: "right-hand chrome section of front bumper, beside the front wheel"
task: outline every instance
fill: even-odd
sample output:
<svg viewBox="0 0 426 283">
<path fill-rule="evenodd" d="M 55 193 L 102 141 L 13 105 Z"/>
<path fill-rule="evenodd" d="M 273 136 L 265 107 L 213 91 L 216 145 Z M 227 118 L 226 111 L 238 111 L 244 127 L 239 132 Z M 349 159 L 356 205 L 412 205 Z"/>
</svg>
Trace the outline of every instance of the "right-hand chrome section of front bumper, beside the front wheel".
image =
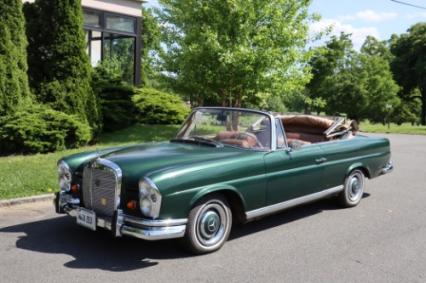
<svg viewBox="0 0 426 283">
<path fill-rule="evenodd" d="M 152 229 L 140 229 L 124 225 L 121 228 L 123 235 L 132 236 L 135 238 L 155 241 L 164 239 L 181 238 L 185 235 L 186 225 L 156 227 Z"/>
</svg>

